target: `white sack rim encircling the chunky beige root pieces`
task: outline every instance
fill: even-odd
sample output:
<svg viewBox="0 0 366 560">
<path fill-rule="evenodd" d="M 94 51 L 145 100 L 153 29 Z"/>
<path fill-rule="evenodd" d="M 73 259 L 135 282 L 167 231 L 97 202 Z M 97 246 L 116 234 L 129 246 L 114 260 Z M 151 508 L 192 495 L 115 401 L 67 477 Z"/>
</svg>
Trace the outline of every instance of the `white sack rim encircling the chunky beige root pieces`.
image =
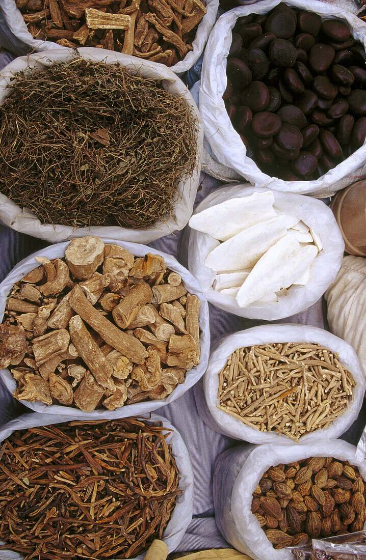
<svg viewBox="0 0 366 560">
<path fill-rule="evenodd" d="M 147 247 L 145 245 L 137 245 L 135 243 L 127 243 L 127 242 L 119 242 L 115 239 L 105 239 L 103 237 L 103 241 L 105 243 L 114 243 L 123 247 L 123 249 L 127 249 L 135 256 L 144 256 L 146 253 L 152 253 L 161 255 L 164 257 L 166 266 L 173 270 L 174 272 L 178 272 L 182 277 L 184 286 L 186 286 L 189 293 L 196 294 L 197 297 L 200 298 L 201 305 L 200 305 L 200 316 L 199 316 L 199 324 L 200 324 L 200 344 L 201 344 L 201 358 L 200 363 L 193 367 L 192 370 L 186 372 L 186 379 L 182 384 L 177 385 L 170 395 L 168 395 L 165 399 L 155 399 L 155 400 L 148 400 L 143 403 L 135 403 L 135 404 L 126 404 L 121 408 L 117 408 L 116 410 L 106 410 L 100 408 L 98 410 L 93 410 L 93 412 L 82 412 L 82 410 L 73 407 L 66 407 L 64 405 L 59 404 L 52 404 L 47 406 L 45 403 L 31 403 L 25 400 L 20 401 L 24 404 L 27 408 L 31 408 L 35 410 L 35 412 L 41 412 L 45 414 L 62 414 L 63 416 L 68 416 L 69 418 L 73 419 L 99 419 L 99 418 L 127 418 L 129 416 L 137 416 L 138 414 L 146 414 L 151 412 L 151 410 L 156 410 L 160 407 L 163 407 L 165 404 L 172 403 L 173 400 L 177 399 L 183 393 L 186 393 L 188 389 L 194 385 L 198 379 L 200 379 L 205 372 L 207 367 L 207 362 L 209 360 L 210 354 L 210 323 L 209 323 L 209 306 L 206 301 L 205 295 L 203 295 L 200 284 L 198 284 L 196 278 L 193 278 L 192 274 L 188 272 L 188 270 L 182 267 L 181 264 L 174 258 L 174 256 L 169 255 L 168 253 L 162 253 L 161 251 L 157 251 L 155 249 L 151 249 L 151 247 Z M 13 284 L 23 278 L 25 274 L 30 272 L 38 266 L 38 263 L 35 261 L 35 256 L 47 256 L 48 259 L 55 259 L 55 258 L 62 258 L 64 256 L 64 251 L 68 246 L 68 242 L 65 243 L 58 243 L 57 245 L 50 245 L 45 249 L 41 249 L 40 251 L 36 251 L 25 259 L 21 260 L 20 263 L 16 265 L 15 268 L 8 274 L 8 276 L 3 280 L 0 284 L 0 317 L 3 318 L 4 309 L 6 305 L 6 298 L 8 293 L 10 292 Z M 16 389 L 16 381 L 13 378 L 11 372 L 8 369 L 0 370 L 0 380 L 3 382 L 3 385 L 10 391 L 11 394 Z"/>
</svg>

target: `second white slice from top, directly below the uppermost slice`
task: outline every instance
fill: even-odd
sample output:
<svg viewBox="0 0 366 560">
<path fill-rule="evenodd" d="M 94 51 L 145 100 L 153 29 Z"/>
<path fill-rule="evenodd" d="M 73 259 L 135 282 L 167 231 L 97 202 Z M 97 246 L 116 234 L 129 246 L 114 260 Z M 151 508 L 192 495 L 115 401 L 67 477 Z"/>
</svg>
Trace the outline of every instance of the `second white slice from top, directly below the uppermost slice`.
<svg viewBox="0 0 366 560">
<path fill-rule="evenodd" d="M 286 235 L 288 227 L 291 227 L 291 222 L 284 214 L 248 227 L 211 251 L 206 256 L 206 267 L 217 273 L 251 268 L 272 245 Z"/>
</svg>

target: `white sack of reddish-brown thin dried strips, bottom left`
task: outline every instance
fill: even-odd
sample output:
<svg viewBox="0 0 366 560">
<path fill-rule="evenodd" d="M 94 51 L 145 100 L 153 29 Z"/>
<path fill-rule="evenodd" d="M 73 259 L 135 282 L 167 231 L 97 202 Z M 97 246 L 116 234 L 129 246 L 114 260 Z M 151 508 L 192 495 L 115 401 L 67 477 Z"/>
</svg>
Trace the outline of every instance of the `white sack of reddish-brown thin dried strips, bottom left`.
<svg viewBox="0 0 366 560">
<path fill-rule="evenodd" d="M 172 552 L 193 511 L 191 460 L 179 432 L 155 414 L 64 420 L 24 414 L 0 428 L 7 558 L 141 560 L 154 538 Z"/>
</svg>

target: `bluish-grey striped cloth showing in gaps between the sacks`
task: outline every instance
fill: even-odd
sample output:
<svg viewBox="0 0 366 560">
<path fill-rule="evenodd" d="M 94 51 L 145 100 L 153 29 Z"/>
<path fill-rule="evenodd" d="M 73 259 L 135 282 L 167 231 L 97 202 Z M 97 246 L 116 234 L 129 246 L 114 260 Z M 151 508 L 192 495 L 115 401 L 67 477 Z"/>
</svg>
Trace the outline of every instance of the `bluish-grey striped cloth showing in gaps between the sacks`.
<svg viewBox="0 0 366 560">
<path fill-rule="evenodd" d="M 0 53 L 0 69 L 12 59 L 13 57 L 10 53 Z M 219 181 L 202 174 L 201 188 L 198 190 L 196 203 L 201 202 L 212 189 L 219 185 Z M 177 232 L 152 242 L 150 246 L 153 249 L 173 254 L 178 258 L 181 237 L 182 234 Z M 10 272 L 19 260 L 46 245 L 44 241 L 0 226 L 0 280 Z M 319 300 L 307 311 L 277 322 L 302 323 L 323 327 L 322 306 L 322 301 Z M 212 338 L 263 323 L 265 321 L 251 321 L 230 315 L 210 305 Z M 24 412 L 27 412 L 27 409 L 13 399 L 3 386 L 0 385 L 0 424 L 8 422 Z M 228 547 L 229 545 L 221 537 L 215 524 L 212 501 L 212 474 L 217 455 L 228 449 L 231 445 L 235 445 L 235 440 L 221 436 L 203 424 L 197 413 L 193 389 L 189 390 L 174 403 L 160 408 L 159 414 L 172 422 L 184 437 L 191 455 L 194 472 L 193 521 L 189 525 L 187 533 L 184 535 L 176 552 Z M 365 418 L 366 409 L 364 408 L 358 420 L 344 435 L 346 441 L 353 444 L 358 441 L 365 424 Z"/>
</svg>

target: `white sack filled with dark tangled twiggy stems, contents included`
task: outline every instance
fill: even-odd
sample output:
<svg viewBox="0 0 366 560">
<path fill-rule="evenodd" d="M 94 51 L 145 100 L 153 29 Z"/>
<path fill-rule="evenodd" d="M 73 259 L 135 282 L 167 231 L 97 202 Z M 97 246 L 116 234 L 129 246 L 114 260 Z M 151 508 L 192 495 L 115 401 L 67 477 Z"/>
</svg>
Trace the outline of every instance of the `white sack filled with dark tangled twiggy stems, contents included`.
<svg viewBox="0 0 366 560">
<path fill-rule="evenodd" d="M 203 134 L 189 91 L 164 66 L 79 54 L 50 50 L 0 73 L 2 222 L 48 241 L 149 242 L 182 229 Z"/>
</svg>

